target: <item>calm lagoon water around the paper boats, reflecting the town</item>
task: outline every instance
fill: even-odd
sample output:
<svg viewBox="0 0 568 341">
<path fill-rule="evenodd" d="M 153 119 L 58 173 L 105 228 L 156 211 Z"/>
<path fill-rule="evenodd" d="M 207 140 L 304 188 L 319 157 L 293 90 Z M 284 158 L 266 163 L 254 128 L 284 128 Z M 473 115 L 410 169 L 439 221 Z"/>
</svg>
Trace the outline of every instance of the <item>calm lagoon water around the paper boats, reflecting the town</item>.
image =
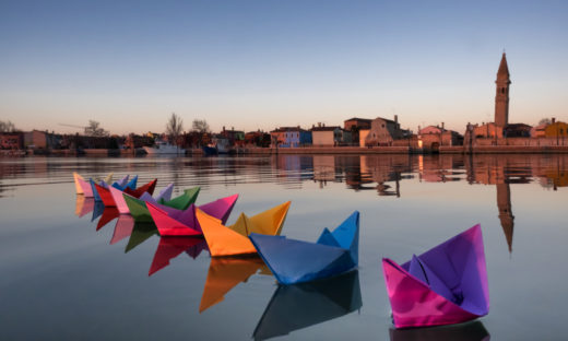
<svg viewBox="0 0 568 341">
<path fill-rule="evenodd" d="M 229 223 L 292 200 L 283 234 L 306 240 L 358 210 L 359 269 L 279 287 L 258 260 L 212 260 L 96 217 L 72 172 L 201 186 L 198 203 L 239 193 Z M 2 158 L 0 339 L 561 340 L 567 185 L 568 155 Z M 489 315 L 392 330 L 380 259 L 406 261 L 476 223 Z"/>
</svg>

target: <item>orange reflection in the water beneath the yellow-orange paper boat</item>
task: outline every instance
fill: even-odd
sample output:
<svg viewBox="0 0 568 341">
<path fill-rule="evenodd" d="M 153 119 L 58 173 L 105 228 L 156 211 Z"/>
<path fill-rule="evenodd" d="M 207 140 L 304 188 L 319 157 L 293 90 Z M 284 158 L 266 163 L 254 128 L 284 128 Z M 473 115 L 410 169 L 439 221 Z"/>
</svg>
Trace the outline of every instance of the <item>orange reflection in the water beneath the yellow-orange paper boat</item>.
<svg viewBox="0 0 568 341">
<path fill-rule="evenodd" d="M 199 305 L 199 313 L 222 302 L 224 296 L 241 282 L 265 268 L 261 273 L 271 274 L 262 259 L 255 258 L 212 258 L 208 279 Z"/>
</svg>

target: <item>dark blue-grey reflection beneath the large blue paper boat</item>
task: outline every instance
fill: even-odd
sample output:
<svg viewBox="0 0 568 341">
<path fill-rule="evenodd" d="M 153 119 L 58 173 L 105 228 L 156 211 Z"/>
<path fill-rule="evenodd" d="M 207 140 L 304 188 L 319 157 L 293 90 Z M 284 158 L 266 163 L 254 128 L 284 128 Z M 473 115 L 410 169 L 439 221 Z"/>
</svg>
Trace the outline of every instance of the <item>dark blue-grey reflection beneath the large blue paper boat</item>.
<svg viewBox="0 0 568 341">
<path fill-rule="evenodd" d="M 255 329 L 255 340 L 285 336 L 362 307 L 358 270 L 322 281 L 279 285 Z"/>
</svg>

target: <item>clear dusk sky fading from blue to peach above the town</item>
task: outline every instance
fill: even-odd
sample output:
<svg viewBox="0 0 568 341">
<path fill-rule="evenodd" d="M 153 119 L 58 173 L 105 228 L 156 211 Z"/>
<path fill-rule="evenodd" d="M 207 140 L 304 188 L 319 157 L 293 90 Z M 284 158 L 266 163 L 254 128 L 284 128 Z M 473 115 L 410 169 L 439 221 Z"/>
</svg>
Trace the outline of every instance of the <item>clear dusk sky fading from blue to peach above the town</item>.
<svg viewBox="0 0 568 341">
<path fill-rule="evenodd" d="M 74 133 L 568 121 L 568 1 L 4 1 L 0 120 Z"/>
</svg>

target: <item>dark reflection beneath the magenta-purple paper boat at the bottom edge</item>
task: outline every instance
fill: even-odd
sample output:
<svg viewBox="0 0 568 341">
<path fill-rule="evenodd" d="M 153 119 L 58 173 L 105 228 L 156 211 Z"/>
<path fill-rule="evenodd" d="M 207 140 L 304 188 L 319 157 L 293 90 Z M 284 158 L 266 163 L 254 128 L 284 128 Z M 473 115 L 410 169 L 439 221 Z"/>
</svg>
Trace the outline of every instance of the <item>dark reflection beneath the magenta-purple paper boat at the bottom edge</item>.
<svg viewBox="0 0 568 341">
<path fill-rule="evenodd" d="M 481 321 L 462 325 L 417 328 L 391 329 L 391 341 L 489 341 L 490 336 Z"/>
</svg>

